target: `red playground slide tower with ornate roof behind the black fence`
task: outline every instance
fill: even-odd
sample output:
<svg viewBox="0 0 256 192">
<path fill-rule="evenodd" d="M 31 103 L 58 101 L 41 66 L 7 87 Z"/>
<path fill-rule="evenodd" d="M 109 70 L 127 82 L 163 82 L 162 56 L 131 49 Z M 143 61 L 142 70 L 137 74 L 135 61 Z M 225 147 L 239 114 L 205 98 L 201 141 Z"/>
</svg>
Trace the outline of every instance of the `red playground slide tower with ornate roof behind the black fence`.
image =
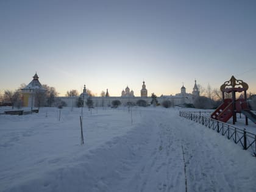
<svg viewBox="0 0 256 192">
<path fill-rule="evenodd" d="M 236 122 L 236 113 L 243 113 L 246 116 L 246 125 L 248 118 L 256 123 L 256 115 L 249 110 L 247 105 L 246 90 L 248 85 L 243 80 L 236 80 L 234 76 L 221 85 L 223 103 L 212 113 L 211 118 L 226 123 L 233 116 L 233 124 Z M 244 91 L 244 99 L 236 99 L 236 92 Z M 232 93 L 232 99 L 224 98 L 225 93 Z"/>
</svg>

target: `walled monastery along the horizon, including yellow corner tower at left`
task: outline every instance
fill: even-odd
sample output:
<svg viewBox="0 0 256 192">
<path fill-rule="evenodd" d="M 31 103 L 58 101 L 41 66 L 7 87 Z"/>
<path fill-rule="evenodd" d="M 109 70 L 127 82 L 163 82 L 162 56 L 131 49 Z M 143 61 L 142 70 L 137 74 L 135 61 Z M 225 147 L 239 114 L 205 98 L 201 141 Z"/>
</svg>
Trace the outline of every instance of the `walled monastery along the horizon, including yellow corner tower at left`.
<svg viewBox="0 0 256 192">
<path fill-rule="evenodd" d="M 37 93 L 44 92 L 44 88 L 39 82 L 39 77 L 37 73 L 35 73 L 33 80 L 23 89 L 21 89 L 23 94 L 23 105 L 24 107 L 31 107 L 35 106 L 35 103 L 37 102 Z M 184 85 L 180 88 L 180 93 L 177 93 L 175 96 L 172 95 L 162 95 L 157 98 L 158 103 L 162 103 L 163 101 L 171 101 L 174 105 L 185 105 L 185 104 L 193 104 L 194 100 L 199 97 L 199 89 L 196 85 L 196 80 L 194 81 L 194 88 L 191 93 L 186 92 L 186 88 Z M 76 106 L 76 103 L 78 102 L 79 98 L 84 99 L 84 102 L 87 101 L 87 98 L 89 97 L 89 94 L 87 93 L 87 88 L 84 85 L 84 90 L 80 94 L 80 96 L 73 96 L 73 97 L 59 97 L 62 101 L 64 101 L 67 105 L 67 107 L 74 107 Z M 127 104 L 139 104 L 139 103 L 146 103 L 147 105 L 151 104 L 151 97 L 148 97 L 148 90 L 146 89 L 145 82 L 143 81 L 142 88 L 140 90 L 140 96 L 134 96 L 133 90 L 130 91 L 130 88 L 127 86 L 125 90 L 121 92 L 121 96 L 110 96 L 107 92 L 105 93 L 105 96 L 91 96 L 91 99 L 93 100 L 94 107 L 106 107 L 111 106 L 113 101 L 120 101 L 122 105 Z M 85 103 L 84 103 L 85 105 Z"/>
</svg>

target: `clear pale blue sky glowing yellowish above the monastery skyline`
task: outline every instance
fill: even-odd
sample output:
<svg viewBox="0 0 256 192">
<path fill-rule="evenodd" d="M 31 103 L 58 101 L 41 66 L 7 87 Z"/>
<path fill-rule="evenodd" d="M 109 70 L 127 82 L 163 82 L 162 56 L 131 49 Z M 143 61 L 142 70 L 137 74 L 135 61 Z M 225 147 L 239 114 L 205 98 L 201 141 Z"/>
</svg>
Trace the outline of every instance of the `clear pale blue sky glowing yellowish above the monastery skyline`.
<svg viewBox="0 0 256 192">
<path fill-rule="evenodd" d="M 256 93 L 256 1 L 0 0 L 0 94 L 41 84 L 120 96 L 219 88 Z"/>
</svg>

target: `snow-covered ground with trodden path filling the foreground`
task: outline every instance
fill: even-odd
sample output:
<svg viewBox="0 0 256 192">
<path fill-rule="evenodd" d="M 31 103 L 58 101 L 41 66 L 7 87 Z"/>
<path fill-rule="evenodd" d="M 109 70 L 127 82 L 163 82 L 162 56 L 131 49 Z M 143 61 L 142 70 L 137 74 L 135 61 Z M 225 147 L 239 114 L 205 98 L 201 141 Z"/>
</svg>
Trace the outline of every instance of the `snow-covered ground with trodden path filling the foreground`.
<svg viewBox="0 0 256 192">
<path fill-rule="evenodd" d="M 82 146 L 80 110 L 0 115 L 0 191 L 256 190 L 251 152 L 180 108 L 84 109 Z"/>
</svg>

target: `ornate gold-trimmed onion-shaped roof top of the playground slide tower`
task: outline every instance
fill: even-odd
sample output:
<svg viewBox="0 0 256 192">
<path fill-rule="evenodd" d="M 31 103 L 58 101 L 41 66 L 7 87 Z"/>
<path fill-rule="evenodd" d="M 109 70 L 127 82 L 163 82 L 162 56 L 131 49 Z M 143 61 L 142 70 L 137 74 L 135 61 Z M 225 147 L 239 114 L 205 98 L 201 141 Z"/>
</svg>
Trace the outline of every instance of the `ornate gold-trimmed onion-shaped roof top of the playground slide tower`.
<svg viewBox="0 0 256 192">
<path fill-rule="evenodd" d="M 221 85 L 222 92 L 236 89 L 247 90 L 248 88 L 249 86 L 248 84 L 246 84 L 246 82 L 243 82 L 243 80 L 237 80 L 234 76 L 232 76 L 230 80 L 227 80 L 226 82 L 224 82 L 224 84 Z"/>
</svg>

